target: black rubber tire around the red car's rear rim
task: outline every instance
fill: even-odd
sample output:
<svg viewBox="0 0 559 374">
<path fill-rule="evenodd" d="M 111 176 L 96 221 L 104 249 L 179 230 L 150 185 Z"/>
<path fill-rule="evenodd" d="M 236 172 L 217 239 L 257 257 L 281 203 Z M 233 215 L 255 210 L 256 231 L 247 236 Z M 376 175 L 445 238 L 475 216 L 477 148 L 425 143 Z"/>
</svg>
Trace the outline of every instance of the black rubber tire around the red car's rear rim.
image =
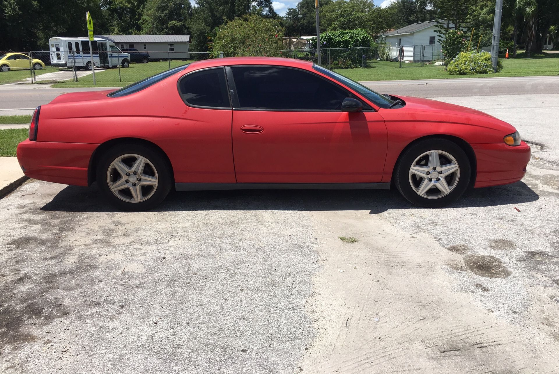
<svg viewBox="0 0 559 374">
<path fill-rule="evenodd" d="M 107 174 L 112 162 L 128 154 L 145 157 L 145 159 L 149 160 L 150 164 L 153 165 L 155 171 L 157 171 L 159 180 L 157 187 L 155 187 L 155 191 L 151 196 L 140 202 L 127 202 L 116 196 L 115 193 L 112 192 L 107 179 Z M 167 197 L 172 186 L 172 172 L 164 155 L 162 155 L 159 150 L 135 142 L 120 143 L 104 151 L 97 163 L 96 177 L 99 189 L 105 194 L 111 204 L 129 212 L 141 212 L 142 210 L 149 210 L 156 207 Z M 126 178 L 124 175 L 123 177 Z M 134 176 L 132 175 L 132 177 Z M 149 193 L 151 192 L 149 191 Z"/>
</svg>

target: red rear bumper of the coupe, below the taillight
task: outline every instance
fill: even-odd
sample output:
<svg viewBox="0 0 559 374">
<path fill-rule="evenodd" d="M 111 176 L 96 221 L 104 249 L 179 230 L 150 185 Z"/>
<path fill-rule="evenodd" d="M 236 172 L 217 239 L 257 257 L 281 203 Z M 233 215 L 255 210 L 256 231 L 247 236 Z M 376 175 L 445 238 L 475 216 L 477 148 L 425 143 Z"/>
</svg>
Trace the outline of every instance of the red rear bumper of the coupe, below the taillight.
<svg viewBox="0 0 559 374">
<path fill-rule="evenodd" d="M 32 142 L 17 146 L 17 161 L 29 178 L 54 183 L 88 185 L 89 161 L 98 144 Z"/>
</svg>

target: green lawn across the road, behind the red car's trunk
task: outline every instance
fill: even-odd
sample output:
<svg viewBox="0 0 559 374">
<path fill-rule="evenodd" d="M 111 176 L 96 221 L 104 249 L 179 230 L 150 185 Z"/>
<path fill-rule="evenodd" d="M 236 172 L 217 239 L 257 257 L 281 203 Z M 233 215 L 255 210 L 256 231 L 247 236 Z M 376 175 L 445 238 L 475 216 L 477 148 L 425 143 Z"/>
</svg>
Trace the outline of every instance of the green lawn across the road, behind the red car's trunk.
<svg viewBox="0 0 559 374">
<path fill-rule="evenodd" d="M 170 68 L 177 68 L 178 66 L 191 63 L 192 61 L 170 61 Z M 169 70 L 169 62 L 153 62 L 147 64 L 130 64 L 129 68 L 119 69 L 103 69 L 96 70 L 95 80 L 97 87 L 124 87 L 126 85 L 132 84 L 149 76 L 162 73 L 165 70 Z M 93 75 L 89 74 L 78 78 L 78 82 L 62 82 L 53 84 L 52 87 L 93 87 Z"/>
</svg>

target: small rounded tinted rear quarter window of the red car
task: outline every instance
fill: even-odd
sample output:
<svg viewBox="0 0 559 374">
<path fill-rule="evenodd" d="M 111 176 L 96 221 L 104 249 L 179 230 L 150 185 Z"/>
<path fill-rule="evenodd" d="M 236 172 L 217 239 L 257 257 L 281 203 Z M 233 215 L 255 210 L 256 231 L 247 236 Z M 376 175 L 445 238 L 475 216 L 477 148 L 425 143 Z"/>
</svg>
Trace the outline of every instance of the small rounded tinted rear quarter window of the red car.
<svg viewBox="0 0 559 374">
<path fill-rule="evenodd" d="M 179 82 L 182 98 L 197 107 L 231 108 L 224 68 L 195 71 Z"/>
</svg>

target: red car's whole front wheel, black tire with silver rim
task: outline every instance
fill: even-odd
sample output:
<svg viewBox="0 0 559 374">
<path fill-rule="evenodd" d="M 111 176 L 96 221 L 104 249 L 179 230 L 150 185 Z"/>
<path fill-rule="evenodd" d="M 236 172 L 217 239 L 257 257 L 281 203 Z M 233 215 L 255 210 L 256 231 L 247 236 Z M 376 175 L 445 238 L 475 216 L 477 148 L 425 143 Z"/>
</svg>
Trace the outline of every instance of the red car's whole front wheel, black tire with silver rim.
<svg viewBox="0 0 559 374">
<path fill-rule="evenodd" d="M 437 208 L 459 198 L 470 176 L 470 160 L 461 147 L 444 138 L 428 138 L 400 156 L 395 184 L 410 203 Z"/>
</svg>

